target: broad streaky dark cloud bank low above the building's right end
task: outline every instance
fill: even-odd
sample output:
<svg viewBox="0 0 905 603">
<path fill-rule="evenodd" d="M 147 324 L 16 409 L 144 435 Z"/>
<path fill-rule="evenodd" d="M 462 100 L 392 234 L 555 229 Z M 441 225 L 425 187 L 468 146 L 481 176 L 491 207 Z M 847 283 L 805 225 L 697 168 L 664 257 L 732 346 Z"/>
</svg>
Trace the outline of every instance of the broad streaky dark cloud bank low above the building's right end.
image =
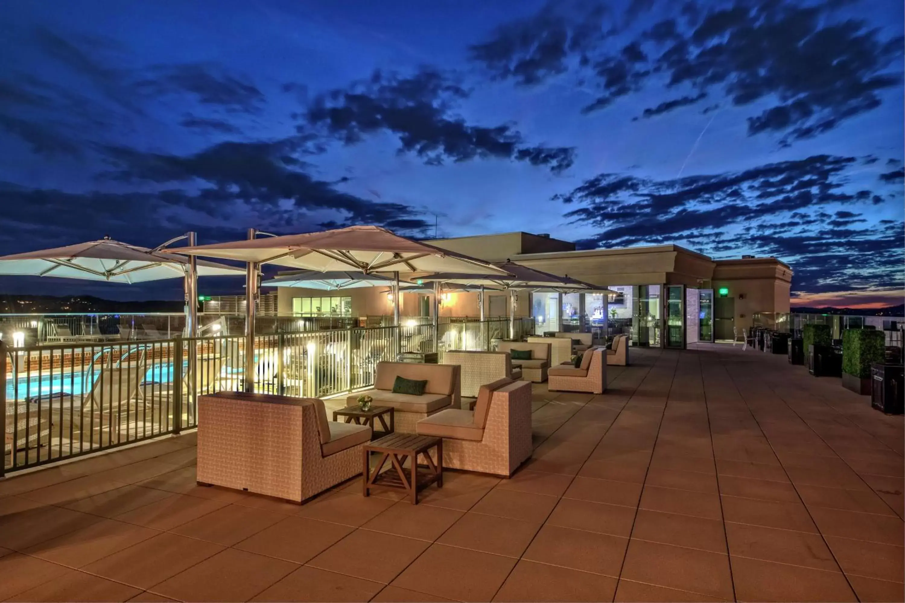
<svg viewBox="0 0 905 603">
<path fill-rule="evenodd" d="M 850 191 L 859 163 L 814 155 L 674 180 L 599 174 L 556 199 L 579 206 L 566 214 L 572 221 L 600 229 L 580 242 L 585 249 L 685 241 L 708 253 L 776 255 L 793 265 L 796 290 L 837 290 L 846 279 L 902 286 L 901 223 L 898 232 L 855 226 L 877 196 Z M 852 209 L 830 212 L 839 204 Z"/>
</svg>

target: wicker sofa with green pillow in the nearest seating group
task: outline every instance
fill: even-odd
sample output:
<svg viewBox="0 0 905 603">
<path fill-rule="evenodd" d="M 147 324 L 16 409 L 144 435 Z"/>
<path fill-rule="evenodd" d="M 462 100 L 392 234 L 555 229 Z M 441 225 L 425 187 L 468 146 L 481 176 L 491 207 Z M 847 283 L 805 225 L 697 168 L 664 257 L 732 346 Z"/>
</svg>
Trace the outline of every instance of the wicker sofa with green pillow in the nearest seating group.
<svg viewBox="0 0 905 603">
<path fill-rule="evenodd" d="M 396 431 L 414 433 L 414 424 L 419 420 L 450 406 L 459 408 L 462 396 L 459 372 L 458 364 L 377 363 L 374 388 L 349 395 L 347 402 L 349 406 L 355 405 L 359 396 L 367 394 L 374 399 L 376 406 L 395 409 Z M 397 376 L 426 380 L 424 393 L 420 396 L 393 393 L 393 383 Z"/>
</svg>

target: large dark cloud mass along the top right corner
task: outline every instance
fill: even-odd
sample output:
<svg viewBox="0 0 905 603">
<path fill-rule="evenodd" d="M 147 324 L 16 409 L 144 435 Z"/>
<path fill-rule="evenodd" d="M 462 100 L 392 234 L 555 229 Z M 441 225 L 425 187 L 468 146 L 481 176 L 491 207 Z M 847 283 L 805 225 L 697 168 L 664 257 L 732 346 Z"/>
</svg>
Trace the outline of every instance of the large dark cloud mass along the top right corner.
<svg viewBox="0 0 905 603">
<path fill-rule="evenodd" d="M 681 10 L 683 27 L 665 19 L 618 51 L 597 35 L 574 52 L 565 41 L 579 27 L 600 31 L 601 13 L 567 20 L 545 9 L 493 33 L 472 58 L 494 77 L 523 85 L 590 69 L 601 93 L 586 113 L 664 78 L 668 88 L 719 92 L 736 106 L 767 100 L 775 104 L 748 118 L 748 135 L 776 133 L 787 146 L 879 107 L 879 93 L 900 85 L 901 74 L 889 70 L 902 52 L 902 38 L 884 38 L 864 21 L 843 20 L 834 12 L 839 5 L 738 0 L 711 5 L 704 13 L 689 4 Z M 543 53 L 541 60 L 539 49 L 546 46 L 538 42 L 551 37 L 557 52 Z"/>
</svg>

